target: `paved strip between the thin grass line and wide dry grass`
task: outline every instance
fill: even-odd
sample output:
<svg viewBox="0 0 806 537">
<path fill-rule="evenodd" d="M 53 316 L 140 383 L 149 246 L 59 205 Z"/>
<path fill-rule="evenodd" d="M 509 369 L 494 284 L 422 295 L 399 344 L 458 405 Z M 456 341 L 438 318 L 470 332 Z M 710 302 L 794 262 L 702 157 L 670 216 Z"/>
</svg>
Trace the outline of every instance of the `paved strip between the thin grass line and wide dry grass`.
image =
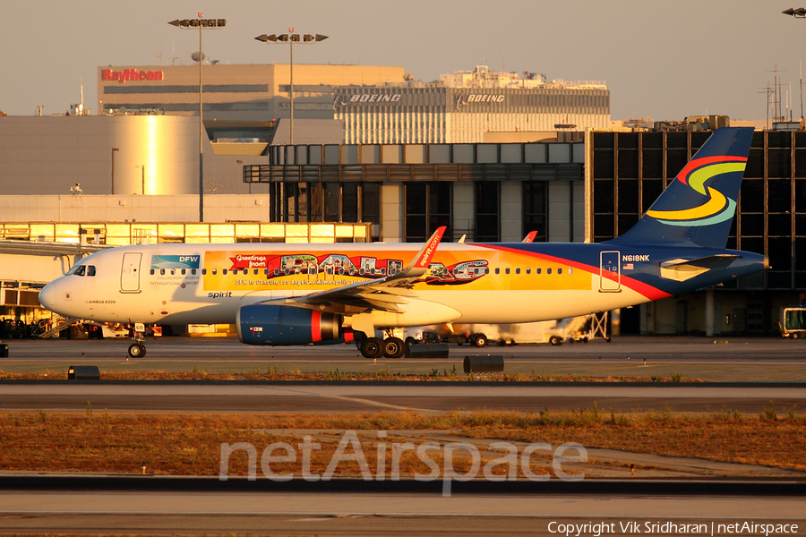
<svg viewBox="0 0 806 537">
<path fill-rule="evenodd" d="M 110 412 L 351 413 L 382 410 L 671 409 L 757 413 L 806 406 L 806 387 L 482 382 L 0 382 L 0 409 Z"/>
</svg>

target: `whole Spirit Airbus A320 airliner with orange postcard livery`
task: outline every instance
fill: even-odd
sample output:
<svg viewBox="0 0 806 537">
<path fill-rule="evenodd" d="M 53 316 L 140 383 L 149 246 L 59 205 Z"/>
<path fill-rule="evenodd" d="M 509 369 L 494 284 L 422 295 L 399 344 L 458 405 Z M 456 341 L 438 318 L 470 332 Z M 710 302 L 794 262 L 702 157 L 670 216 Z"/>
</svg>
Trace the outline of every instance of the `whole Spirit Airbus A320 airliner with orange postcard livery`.
<svg viewBox="0 0 806 537">
<path fill-rule="evenodd" d="M 85 320 L 235 323 L 249 345 L 356 341 L 367 358 L 404 353 L 393 328 L 555 320 L 647 303 L 768 268 L 763 255 L 725 250 L 752 135 L 714 132 L 638 224 L 604 243 L 440 243 L 441 227 L 422 248 L 133 245 L 84 258 L 39 302 Z M 145 354 L 140 336 L 129 354 Z"/>
</svg>

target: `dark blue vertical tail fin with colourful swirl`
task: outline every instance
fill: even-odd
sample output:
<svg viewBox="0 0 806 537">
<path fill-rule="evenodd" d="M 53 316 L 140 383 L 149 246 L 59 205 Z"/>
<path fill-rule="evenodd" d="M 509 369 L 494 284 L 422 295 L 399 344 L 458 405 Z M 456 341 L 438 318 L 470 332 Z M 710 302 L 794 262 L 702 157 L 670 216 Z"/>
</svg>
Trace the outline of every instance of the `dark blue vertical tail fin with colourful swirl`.
<svg viewBox="0 0 806 537">
<path fill-rule="evenodd" d="M 610 243 L 725 248 L 753 129 L 717 129 L 630 231 Z"/>
</svg>

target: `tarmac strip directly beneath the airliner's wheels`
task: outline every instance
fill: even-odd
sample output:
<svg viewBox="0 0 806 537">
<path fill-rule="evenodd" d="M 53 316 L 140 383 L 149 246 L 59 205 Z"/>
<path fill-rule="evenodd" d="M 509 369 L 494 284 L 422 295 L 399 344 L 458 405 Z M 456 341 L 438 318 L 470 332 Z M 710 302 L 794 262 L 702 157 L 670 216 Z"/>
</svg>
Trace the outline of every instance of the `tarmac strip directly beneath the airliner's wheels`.
<svg viewBox="0 0 806 537">
<path fill-rule="evenodd" d="M 236 337 L 159 337 L 148 353 L 129 359 L 128 340 L 7 340 L 9 357 L 0 371 L 66 371 L 70 365 L 98 365 L 101 371 L 266 372 L 336 371 L 462 374 L 465 355 L 496 354 L 505 372 L 593 377 L 664 377 L 674 373 L 707 381 L 806 382 L 806 341 L 781 338 L 613 337 L 587 344 L 450 345 L 441 359 L 367 360 L 355 345 L 264 347 Z M 646 360 L 646 365 L 644 361 Z"/>
</svg>

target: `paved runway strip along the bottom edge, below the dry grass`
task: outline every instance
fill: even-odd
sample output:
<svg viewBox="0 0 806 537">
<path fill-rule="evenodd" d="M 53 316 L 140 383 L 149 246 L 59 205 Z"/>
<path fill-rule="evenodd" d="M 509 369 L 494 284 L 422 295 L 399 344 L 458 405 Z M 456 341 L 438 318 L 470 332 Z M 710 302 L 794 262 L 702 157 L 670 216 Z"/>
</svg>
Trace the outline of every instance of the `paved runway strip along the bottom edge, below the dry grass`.
<svg viewBox="0 0 806 537">
<path fill-rule="evenodd" d="M 0 531 L 550 535 L 552 522 L 554 532 L 604 522 L 629 533 L 620 525 L 751 521 L 802 534 L 806 522 L 804 488 L 791 483 L 455 482 L 444 497 L 440 482 L 104 480 L 12 478 L 0 490 Z"/>
</svg>

